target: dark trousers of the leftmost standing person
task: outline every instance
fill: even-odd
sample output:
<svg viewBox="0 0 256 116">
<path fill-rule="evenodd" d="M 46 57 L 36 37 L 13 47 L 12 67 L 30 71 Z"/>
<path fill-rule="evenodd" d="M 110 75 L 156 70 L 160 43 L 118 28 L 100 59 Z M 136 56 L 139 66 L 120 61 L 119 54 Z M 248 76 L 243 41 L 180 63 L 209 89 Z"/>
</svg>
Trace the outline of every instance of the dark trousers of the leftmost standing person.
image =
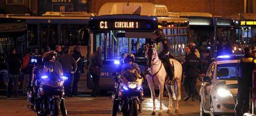
<svg viewBox="0 0 256 116">
<path fill-rule="evenodd" d="M 12 96 L 12 89 L 13 95 L 18 96 L 18 88 L 19 88 L 19 75 L 9 73 L 9 80 L 7 86 L 7 96 Z"/>
</svg>

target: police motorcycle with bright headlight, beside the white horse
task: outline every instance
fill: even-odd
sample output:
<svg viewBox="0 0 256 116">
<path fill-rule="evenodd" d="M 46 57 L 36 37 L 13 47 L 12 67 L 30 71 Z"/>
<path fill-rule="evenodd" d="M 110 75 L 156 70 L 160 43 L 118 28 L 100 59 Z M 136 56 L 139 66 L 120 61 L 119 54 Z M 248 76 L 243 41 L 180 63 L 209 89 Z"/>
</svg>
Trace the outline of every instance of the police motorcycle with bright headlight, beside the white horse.
<svg viewBox="0 0 256 116">
<path fill-rule="evenodd" d="M 119 112 L 123 115 L 137 116 L 141 112 L 143 78 L 135 69 L 122 73 L 123 76 L 120 72 L 111 74 L 115 82 L 112 115 Z"/>
</svg>

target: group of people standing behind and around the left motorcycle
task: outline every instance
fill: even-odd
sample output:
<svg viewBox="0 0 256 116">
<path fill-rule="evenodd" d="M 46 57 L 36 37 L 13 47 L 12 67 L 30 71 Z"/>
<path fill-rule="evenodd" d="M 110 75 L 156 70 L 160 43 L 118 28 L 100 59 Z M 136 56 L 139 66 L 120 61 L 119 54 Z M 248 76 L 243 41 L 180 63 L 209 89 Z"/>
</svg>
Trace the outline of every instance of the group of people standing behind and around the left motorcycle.
<svg viewBox="0 0 256 116">
<path fill-rule="evenodd" d="M 44 64 L 31 64 L 31 60 L 35 57 L 45 58 L 46 54 L 49 52 L 54 52 L 54 62 L 59 62 L 62 65 L 63 75 L 68 77 L 68 80 L 64 83 L 64 89 L 66 96 L 72 97 L 72 95 L 77 95 L 77 83 L 80 80 L 80 74 L 83 73 L 83 60 L 80 53 L 80 47 L 74 46 L 72 52 L 66 47 L 62 51 L 62 47 L 57 45 L 54 51 L 51 51 L 49 47 L 41 52 L 38 52 L 37 48 L 30 52 L 28 49 L 22 62 L 16 55 L 15 48 L 12 48 L 7 57 L 7 72 L 8 72 L 8 86 L 7 86 L 7 97 L 19 97 L 18 88 L 20 81 L 23 81 L 23 94 L 27 93 L 28 87 L 31 85 L 32 73 L 35 71 L 42 72 L 41 69 Z M 44 59 L 45 60 L 45 59 Z M 35 74 L 36 75 L 36 74 Z M 40 76 L 40 75 L 39 75 Z"/>
</svg>

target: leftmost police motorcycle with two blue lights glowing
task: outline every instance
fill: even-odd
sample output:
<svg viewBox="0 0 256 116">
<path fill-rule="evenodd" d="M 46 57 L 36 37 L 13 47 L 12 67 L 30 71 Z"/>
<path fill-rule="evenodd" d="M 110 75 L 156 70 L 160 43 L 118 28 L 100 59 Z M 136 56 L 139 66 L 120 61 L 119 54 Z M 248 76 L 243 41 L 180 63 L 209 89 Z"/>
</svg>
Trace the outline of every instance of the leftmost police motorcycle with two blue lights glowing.
<svg viewBox="0 0 256 116">
<path fill-rule="evenodd" d="M 67 115 L 64 105 L 64 81 L 67 77 L 54 71 L 56 62 L 45 62 L 51 68 L 45 68 L 40 77 L 37 97 L 35 98 L 35 111 L 38 115 L 58 116 L 59 110 L 62 115 Z"/>
</svg>

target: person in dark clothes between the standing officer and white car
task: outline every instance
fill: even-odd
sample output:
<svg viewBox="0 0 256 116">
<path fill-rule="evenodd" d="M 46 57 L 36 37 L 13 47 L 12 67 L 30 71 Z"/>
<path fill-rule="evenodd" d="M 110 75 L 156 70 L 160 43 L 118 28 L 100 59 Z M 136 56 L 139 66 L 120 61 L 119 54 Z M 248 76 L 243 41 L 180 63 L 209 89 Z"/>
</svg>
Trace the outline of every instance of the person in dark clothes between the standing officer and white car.
<svg viewBox="0 0 256 116">
<path fill-rule="evenodd" d="M 206 49 L 203 51 L 203 57 L 201 58 L 201 68 L 202 68 L 202 77 L 205 76 L 205 73 L 207 72 L 207 69 L 209 65 L 215 61 L 215 58 L 211 56 L 211 51 Z"/>
</svg>

